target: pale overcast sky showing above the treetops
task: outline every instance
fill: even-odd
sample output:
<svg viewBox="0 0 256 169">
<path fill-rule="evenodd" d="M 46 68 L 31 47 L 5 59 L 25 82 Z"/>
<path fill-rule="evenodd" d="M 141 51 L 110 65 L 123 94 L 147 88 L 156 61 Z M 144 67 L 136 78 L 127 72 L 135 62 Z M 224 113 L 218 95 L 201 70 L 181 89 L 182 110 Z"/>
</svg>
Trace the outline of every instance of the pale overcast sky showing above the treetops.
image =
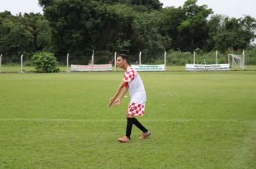
<svg viewBox="0 0 256 169">
<path fill-rule="evenodd" d="M 186 0 L 160 0 L 164 7 L 183 6 Z M 250 15 L 256 18 L 256 0 L 198 0 L 198 5 L 206 4 L 213 9 L 214 14 L 224 14 L 230 17 L 244 17 Z M 12 14 L 21 12 L 40 12 L 42 8 L 38 6 L 38 0 L 0 0 L 0 11 L 11 11 Z"/>
</svg>

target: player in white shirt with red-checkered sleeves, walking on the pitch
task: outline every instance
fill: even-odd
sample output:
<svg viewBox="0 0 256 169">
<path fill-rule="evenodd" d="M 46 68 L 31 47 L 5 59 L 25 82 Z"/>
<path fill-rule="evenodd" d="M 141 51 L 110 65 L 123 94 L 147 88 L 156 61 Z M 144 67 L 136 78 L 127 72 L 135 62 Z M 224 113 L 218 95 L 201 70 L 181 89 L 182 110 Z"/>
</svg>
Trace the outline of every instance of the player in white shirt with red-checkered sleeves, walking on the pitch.
<svg viewBox="0 0 256 169">
<path fill-rule="evenodd" d="M 129 95 L 131 97 L 127 109 L 126 135 L 119 137 L 117 140 L 122 143 L 128 143 L 131 139 L 130 136 L 133 124 L 142 130 L 140 139 L 146 138 L 151 134 L 150 131 L 134 117 L 134 115 L 144 115 L 145 112 L 146 92 L 142 79 L 138 72 L 129 66 L 126 54 L 119 54 L 117 56 L 116 66 L 125 70 L 124 79 L 122 79 L 122 82 L 119 84 L 114 96 L 110 98 L 109 106 L 111 106 L 112 103 L 114 103 L 115 106 L 120 105 L 122 97 L 124 97 L 127 90 L 129 90 Z M 118 98 L 116 99 L 116 97 Z"/>
</svg>

